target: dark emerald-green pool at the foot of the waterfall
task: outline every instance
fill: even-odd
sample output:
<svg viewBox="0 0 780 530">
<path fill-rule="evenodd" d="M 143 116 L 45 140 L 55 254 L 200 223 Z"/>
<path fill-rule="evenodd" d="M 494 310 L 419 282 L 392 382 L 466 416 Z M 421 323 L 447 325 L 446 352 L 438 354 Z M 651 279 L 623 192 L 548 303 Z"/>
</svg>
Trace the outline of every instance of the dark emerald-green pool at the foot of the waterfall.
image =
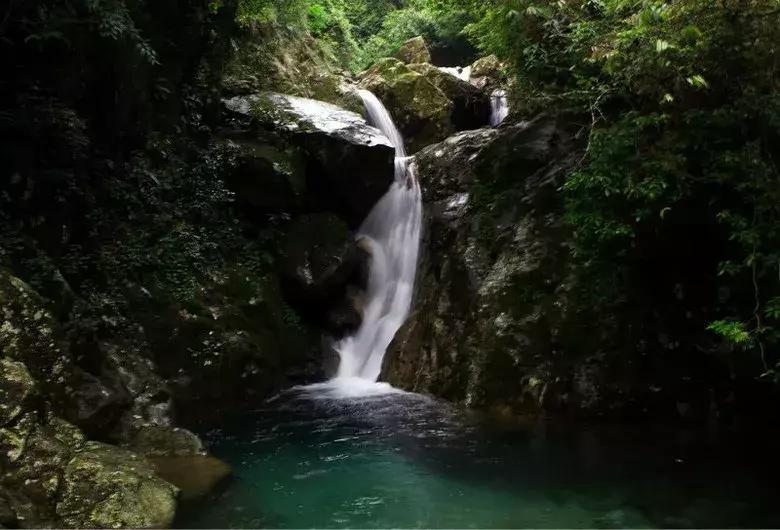
<svg viewBox="0 0 780 530">
<path fill-rule="evenodd" d="M 287 392 L 209 433 L 234 479 L 187 527 L 778 527 L 752 438 L 647 426 L 501 425 L 422 396 Z"/>
</svg>

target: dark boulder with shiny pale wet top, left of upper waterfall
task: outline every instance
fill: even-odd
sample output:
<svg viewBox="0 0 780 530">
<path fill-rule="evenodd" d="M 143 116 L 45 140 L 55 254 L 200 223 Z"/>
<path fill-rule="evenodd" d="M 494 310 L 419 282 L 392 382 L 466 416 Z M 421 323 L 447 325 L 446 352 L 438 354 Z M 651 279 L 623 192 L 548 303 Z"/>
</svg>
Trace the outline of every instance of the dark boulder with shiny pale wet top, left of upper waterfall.
<svg viewBox="0 0 780 530">
<path fill-rule="evenodd" d="M 282 94 L 236 96 L 225 106 L 243 125 L 275 131 L 300 148 L 309 195 L 319 197 L 354 225 L 368 215 L 393 181 L 392 144 L 359 114 Z M 268 163 L 260 170 L 276 171 Z"/>
</svg>

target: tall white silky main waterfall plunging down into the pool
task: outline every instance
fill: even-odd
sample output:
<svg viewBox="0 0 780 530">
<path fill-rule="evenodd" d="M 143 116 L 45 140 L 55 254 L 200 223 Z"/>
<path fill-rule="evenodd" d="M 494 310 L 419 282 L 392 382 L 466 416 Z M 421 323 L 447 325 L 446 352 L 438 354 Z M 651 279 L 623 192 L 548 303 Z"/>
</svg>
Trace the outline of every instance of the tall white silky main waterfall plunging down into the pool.
<svg viewBox="0 0 780 530">
<path fill-rule="evenodd" d="M 422 226 L 422 194 L 414 164 L 390 113 L 374 94 L 361 90 L 368 120 L 395 146 L 395 182 L 374 206 L 358 231 L 371 254 L 363 321 L 336 350 L 338 379 L 376 381 L 385 351 L 409 316 L 417 273 Z"/>
</svg>

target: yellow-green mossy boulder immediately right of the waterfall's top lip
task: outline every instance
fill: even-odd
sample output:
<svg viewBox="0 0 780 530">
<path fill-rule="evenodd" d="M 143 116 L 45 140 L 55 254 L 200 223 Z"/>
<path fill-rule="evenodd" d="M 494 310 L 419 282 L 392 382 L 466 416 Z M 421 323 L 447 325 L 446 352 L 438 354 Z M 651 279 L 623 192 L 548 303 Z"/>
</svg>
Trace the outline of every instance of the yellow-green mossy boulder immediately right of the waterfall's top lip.
<svg viewBox="0 0 780 530">
<path fill-rule="evenodd" d="M 360 85 L 384 103 L 411 153 L 445 139 L 455 130 L 450 98 L 427 76 L 398 59 L 377 61 L 361 74 Z"/>
</svg>

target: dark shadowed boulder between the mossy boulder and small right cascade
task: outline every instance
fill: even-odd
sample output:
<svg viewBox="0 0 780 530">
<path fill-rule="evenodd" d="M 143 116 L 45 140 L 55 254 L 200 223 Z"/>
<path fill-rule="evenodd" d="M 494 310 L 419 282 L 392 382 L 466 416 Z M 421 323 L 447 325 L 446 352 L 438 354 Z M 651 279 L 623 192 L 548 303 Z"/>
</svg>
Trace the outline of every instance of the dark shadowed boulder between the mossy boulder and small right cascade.
<svg viewBox="0 0 780 530">
<path fill-rule="evenodd" d="M 452 125 L 456 131 L 478 129 L 490 121 L 490 97 L 477 87 L 430 63 L 410 64 L 452 101 Z"/>
</svg>

